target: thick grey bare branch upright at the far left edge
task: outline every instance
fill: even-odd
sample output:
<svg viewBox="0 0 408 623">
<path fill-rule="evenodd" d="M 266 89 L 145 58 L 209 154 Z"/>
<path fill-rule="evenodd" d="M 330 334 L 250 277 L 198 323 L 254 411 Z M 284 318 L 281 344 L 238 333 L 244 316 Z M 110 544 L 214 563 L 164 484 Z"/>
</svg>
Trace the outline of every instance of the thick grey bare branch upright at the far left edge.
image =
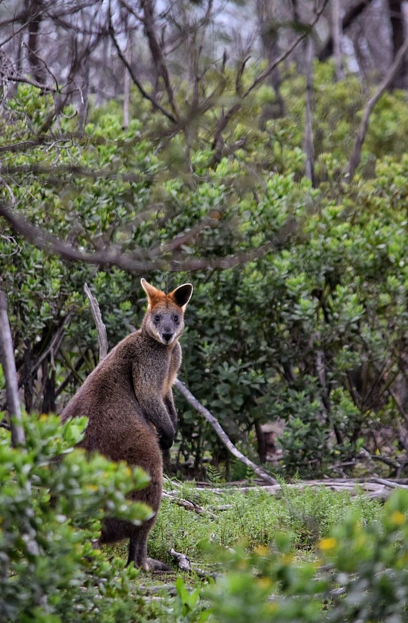
<svg viewBox="0 0 408 623">
<path fill-rule="evenodd" d="M 26 437 L 21 426 L 21 410 L 19 401 L 19 386 L 17 381 L 16 362 L 14 361 L 14 348 L 7 316 L 7 297 L 0 290 L 0 351 L 1 363 L 6 379 L 7 411 L 11 428 L 11 442 L 16 445 L 25 445 Z"/>
</svg>

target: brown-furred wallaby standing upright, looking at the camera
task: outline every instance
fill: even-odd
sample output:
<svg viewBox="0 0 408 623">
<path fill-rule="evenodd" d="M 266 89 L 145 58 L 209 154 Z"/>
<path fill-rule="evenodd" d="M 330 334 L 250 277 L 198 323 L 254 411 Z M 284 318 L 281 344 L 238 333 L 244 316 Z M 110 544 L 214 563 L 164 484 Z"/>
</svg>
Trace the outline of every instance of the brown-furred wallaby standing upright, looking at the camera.
<svg viewBox="0 0 408 623">
<path fill-rule="evenodd" d="M 128 563 L 143 569 L 163 568 L 147 558 L 147 540 L 161 502 L 163 462 L 160 448 L 173 444 L 177 412 L 172 385 L 181 364 L 178 338 L 183 333 L 184 310 L 192 294 L 191 283 L 165 294 L 141 280 L 148 308 L 141 328 L 118 343 L 62 412 L 62 421 L 87 416 L 85 438 L 79 444 L 98 450 L 111 460 L 140 465 L 149 473 L 148 487 L 131 494 L 155 513 L 141 526 L 107 519 L 102 543 L 130 538 Z"/>
</svg>

